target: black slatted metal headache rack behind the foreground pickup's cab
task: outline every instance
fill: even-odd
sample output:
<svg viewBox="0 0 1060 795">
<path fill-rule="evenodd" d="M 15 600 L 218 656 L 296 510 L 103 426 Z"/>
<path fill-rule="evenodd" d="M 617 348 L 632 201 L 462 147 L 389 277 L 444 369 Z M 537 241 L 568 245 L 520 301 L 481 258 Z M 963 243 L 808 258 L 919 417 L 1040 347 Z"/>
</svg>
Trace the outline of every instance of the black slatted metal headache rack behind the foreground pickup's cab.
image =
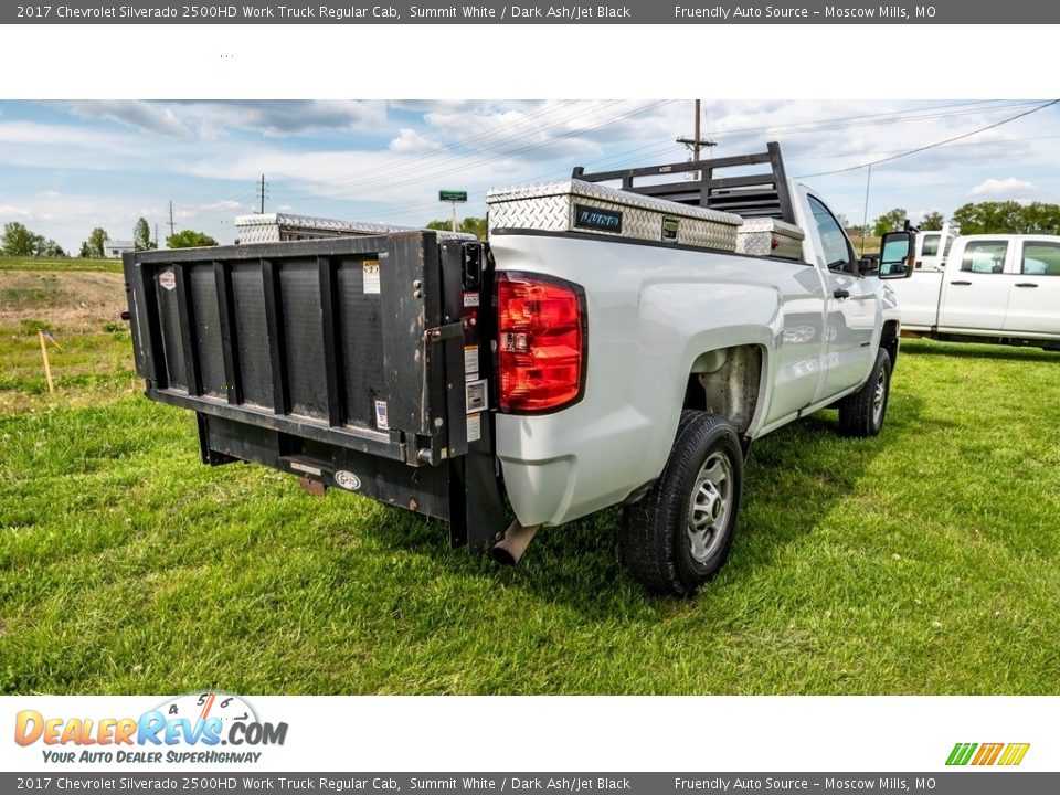
<svg viewBox="0 0 1060 795">
<path fill-rule="evenodd" d="M 717 176 L 722 170 L 763 163 L 770 165 L 768 171 L 741 173 L 734 177 Z M 669 174 L 695 174 L 697 171 L 698 179 L 678 179 L 677 181 L 658 179 Z M 585 182 L 621 182 L 624 191 L 720 210 L 745 219 L 771 218 L 789 224 L 795 223 L 781 147 L 775 141 L 767 144 L 764 152 L 711 158 L 697 162 L 597 172 L 587 172 L 579 166 L 574 169 L 572 177 Z"/>
</svg>

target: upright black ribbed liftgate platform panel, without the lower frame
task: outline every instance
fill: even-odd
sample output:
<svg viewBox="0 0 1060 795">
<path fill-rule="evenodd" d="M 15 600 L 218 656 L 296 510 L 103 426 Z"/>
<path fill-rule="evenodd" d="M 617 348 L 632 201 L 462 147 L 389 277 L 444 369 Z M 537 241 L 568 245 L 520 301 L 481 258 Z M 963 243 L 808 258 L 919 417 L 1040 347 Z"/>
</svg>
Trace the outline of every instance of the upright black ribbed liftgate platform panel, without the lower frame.
<svg viewBox="0 0 1060 795">
<path fill-rule="evenodd" d="M 126 255 L 137 372 L 206 416 L 437 465 L 467 452 L 465 390 L 486 402 L 442 258 L 423 232 Z"/>
</svg>

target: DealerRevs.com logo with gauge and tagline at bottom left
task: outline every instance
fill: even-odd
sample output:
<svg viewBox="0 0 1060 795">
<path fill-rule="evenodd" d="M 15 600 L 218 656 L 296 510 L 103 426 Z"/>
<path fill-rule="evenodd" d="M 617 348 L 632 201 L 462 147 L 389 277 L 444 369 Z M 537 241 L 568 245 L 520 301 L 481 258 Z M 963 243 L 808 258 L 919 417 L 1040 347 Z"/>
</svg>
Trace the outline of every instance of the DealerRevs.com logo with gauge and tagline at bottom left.
<svg viewBox="0 0 1060 795">
<path fill-rule="evenodd" d="M 286 739 L 286 722 L 262 721 L 244 699 L 213 691 L 178 696 L 139 718 L 55 718 L 22 710 L 14 719 L 15 743 L 39 744 L 44 761 L 55 763 L 255 763 L 258 749 Z"/>
</svg>

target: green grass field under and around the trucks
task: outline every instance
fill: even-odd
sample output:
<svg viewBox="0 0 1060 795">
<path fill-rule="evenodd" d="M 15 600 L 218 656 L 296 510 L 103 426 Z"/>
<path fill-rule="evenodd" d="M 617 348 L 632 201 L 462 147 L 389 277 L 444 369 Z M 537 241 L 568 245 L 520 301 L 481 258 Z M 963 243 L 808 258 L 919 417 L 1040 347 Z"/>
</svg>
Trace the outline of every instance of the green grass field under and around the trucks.
<svg viewBox="0 0 1060 795">
<path fill-rule="evenodd" d="M 730 563 L 678 602 L 627 577 L 617 511 L 498 570 L 201 466 L 139 395 L 120 277 L 53 275 L 0 271 L 2 692 L 1060 692 L 1058 354 L 904 342 L 882 436 L 757 443 Z"/>
</svg>

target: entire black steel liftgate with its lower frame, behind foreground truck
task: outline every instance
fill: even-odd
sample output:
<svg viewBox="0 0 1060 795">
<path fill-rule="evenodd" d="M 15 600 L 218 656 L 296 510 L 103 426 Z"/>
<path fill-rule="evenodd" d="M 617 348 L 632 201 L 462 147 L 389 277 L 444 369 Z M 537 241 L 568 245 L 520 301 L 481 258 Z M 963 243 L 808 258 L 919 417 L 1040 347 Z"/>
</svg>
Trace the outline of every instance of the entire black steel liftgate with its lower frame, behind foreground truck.
<svg viewBox="0 0 1060 795">
<path fill-rule="evenodd" d="M 205 463 L 289 470 L 474 541 L 476 452 L 494 478 L 488 265 L 483 244 L 430 232 L 127 254 L 136 369 L 149 398 L 197 412 Z"/>
</svg>

